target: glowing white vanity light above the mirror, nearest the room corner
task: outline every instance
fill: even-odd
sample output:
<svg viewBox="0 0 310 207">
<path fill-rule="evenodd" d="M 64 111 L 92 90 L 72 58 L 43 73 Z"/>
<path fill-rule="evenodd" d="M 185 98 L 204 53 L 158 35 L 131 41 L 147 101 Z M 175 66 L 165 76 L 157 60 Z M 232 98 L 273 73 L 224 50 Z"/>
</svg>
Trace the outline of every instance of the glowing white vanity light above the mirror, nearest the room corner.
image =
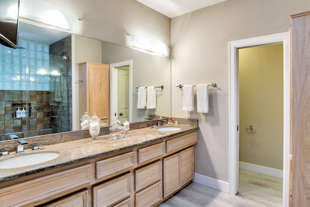
<svg viewBox="0 0 310 207">
<path fill-rule="evenodd" d="M 126 39 L 129 47 L 137 48 L 141 51 L 167 56 L 169 48 L 166 44 L 142 35 L 127 34 Z"/>
</svg>

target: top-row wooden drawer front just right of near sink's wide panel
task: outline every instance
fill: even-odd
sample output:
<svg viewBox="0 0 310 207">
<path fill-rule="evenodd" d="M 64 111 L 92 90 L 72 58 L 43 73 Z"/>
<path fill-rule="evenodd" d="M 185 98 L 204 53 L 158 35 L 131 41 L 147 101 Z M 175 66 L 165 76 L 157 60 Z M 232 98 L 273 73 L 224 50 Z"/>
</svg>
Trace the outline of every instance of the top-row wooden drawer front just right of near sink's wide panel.
<svg viewBox="0 0 310 207">
<path fill-rule="evenodd" d="M 96 161 L 96 179 L 111 177 L 134 168 L 134 152 Z"/>
</svg>

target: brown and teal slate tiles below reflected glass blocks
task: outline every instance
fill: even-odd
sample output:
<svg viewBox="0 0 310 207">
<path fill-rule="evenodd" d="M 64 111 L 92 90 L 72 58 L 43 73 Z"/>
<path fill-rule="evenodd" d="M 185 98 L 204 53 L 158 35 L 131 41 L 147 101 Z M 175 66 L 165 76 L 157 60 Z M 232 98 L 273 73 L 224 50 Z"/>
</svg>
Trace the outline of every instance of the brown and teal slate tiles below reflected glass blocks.
<svg viewBox="0 0 310 207">
<path fill-rule="evenodd" d="M 27 91 L 0 90 L 0 141 L 9 140 L 11 134 L 22 138 L 52 132 L 49 115 L 49 92 L 28 91 L 29 103 L 25 101 L 26 96 Z M 25 107 L 32 118 L 16 118 L 17 107 Z M 31 113 L 31 107 L 33 113 Z"/>
</svg>

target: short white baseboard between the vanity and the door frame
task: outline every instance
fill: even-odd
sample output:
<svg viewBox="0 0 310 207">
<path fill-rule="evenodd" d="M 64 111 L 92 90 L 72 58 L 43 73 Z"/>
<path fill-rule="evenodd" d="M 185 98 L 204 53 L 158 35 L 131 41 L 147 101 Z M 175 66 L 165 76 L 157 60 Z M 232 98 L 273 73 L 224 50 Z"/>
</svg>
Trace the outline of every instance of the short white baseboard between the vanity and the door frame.
<svg viewBox="0 0 310 207">
<path fill-rule="evenodd" d="M 195 173 L 193 182 L 213 188 L 217 191 L 229 193 L 229 183 Z"/>
</svg>

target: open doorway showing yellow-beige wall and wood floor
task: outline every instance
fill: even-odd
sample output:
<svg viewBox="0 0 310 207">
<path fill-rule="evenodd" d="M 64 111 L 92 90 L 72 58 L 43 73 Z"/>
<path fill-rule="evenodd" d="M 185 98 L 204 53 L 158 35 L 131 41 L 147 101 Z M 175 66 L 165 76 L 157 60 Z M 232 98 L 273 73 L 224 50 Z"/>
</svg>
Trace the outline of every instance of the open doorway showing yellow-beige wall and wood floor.
<svg viewBox="0 0 310 207">
<path fill-rule="evenodd" d="M 283 44 L 239 48 L 238 73 L 238 192 L 250 193 L 250 185 L 255 199 L 278 206 L 283 183 Z"/>
</svg>

